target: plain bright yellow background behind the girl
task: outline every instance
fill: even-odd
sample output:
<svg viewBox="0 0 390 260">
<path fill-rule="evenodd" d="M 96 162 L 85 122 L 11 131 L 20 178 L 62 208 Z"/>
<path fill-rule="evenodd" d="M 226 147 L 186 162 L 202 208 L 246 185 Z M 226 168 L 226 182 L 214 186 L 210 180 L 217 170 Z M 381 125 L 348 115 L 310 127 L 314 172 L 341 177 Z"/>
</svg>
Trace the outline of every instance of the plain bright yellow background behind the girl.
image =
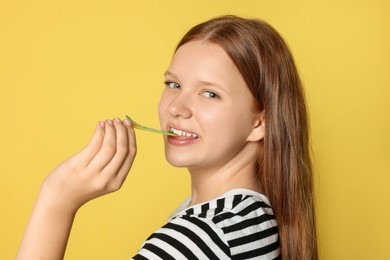
<svg viewBox="0 0 390 260">
<path fill-rule="evenodd" d="M 390 4 L 348 1 L 0 2 L 0 259 L 13 259 L 40 183 L 99 120 L 156 107 L 176 42 L 221 14 L 287 39 L 311 115 L 322 259 L 388 259 Z M 128 259 L 189 195 L 160 136 L 137 132 L 121 191 L 78 213 L 66 259 Z"/>
</svg>

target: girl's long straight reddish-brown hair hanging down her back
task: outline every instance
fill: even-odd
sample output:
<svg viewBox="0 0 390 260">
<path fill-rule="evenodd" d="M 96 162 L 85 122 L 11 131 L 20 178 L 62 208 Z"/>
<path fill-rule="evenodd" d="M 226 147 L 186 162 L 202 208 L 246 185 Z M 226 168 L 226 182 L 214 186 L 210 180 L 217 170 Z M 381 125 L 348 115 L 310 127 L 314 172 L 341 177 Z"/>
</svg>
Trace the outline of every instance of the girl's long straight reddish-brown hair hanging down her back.
<svg viewBox="0 0 390 260">
<path fill-rule="evenodd" d="M 289 48 L 266 22 L 236 16 L 196 25 L 177 48 L 194 40 L 226 51 L 265 113 L 258 177 L 278 223 L 282 259 L 318 259 L 309 122 Z"/>
</svg>

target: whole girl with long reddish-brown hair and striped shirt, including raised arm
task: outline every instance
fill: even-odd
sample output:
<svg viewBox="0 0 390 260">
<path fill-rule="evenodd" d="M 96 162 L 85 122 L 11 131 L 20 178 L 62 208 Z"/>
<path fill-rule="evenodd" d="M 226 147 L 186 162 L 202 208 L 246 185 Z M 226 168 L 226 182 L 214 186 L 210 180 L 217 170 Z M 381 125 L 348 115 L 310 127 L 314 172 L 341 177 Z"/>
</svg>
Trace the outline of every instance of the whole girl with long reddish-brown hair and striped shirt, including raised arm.
<svg viewBox="0 0 390 260">
<path fill-rule="evenodd" d="M 165 155 L 192 191 L 133 258 L 317 259 L 308 117 L 282 37 L 257 19 L 206 21 L 164 77 Z M 99 122 L 43 182 L 17 259 L 62 259 L 77 210 L 118 190 L 135 155 L 130 121 Z"/>
</svg>

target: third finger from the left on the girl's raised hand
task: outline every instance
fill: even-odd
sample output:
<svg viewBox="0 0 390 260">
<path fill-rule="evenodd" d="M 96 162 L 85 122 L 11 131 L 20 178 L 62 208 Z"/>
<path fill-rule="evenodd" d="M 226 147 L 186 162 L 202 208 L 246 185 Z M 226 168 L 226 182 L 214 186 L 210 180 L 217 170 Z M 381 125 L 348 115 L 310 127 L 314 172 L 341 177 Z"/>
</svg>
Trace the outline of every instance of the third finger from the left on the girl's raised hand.
<svg viewBox="0 0 390 260">
<path fill-rule="evenodd" d="M 114 178 L 122 164 L 124 163 L 129 153 L 129 138 L 126 127 L 120 119 L 115 119 L 114 126 L 116 130 L 116 151 L 112 160 L 102 170 L 102 175 L 105 178 Z"/>
</svg>

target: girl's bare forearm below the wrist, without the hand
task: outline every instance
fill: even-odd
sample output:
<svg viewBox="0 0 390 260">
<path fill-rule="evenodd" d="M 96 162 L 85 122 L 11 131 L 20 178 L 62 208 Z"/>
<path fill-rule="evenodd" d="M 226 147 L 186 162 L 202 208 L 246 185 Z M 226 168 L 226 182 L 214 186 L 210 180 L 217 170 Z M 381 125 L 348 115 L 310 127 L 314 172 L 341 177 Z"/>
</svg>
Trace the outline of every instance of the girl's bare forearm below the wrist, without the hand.
<svg viewBox="0 0 390 260">
<path fill-rule="evenodd" d="M 17 260 L 63 259 L 75 210 L 52 205 L 41 190 L 27 224 Z"/>
</svg>

